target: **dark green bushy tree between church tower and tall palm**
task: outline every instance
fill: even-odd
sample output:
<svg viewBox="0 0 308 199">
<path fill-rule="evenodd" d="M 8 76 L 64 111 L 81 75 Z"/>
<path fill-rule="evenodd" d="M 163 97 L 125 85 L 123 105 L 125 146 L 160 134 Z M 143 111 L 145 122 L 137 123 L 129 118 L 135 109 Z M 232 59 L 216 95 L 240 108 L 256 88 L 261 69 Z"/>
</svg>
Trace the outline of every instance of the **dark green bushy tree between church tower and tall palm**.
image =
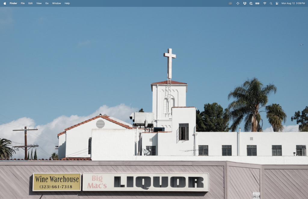
<svg viewBox="0 0 308 199">
<path fill-rule="evenodd" d="M 228 109 L 223 109 L 216 102 L 213 104 L 205 104 L 204 111 L 200 113 L 197 110 L 196 128 L 199 132 L 228 132 L 229 122 L 226 122 L 228 117 Z"/>
</svg>

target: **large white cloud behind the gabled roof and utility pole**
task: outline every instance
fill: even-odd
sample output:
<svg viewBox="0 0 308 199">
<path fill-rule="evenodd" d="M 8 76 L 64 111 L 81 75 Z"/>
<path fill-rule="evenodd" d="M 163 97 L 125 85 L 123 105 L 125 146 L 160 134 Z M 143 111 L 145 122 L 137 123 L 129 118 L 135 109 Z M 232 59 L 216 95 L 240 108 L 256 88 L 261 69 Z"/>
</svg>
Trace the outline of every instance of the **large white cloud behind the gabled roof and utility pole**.
<svg viewBox="0 0 308 199">
<path fill-rule="evenodd" d="M 48 124 L 37 126 L 33 119 L 28 117 L 22 117 L 8 124 L 0 125 L 0 136 L 1 138 L 3 137 L 11 141 L 17 142 L 12 143 L 13 146 L 20 146 L 24 145 L 25 143 L 24 133 L 23 131 L 12 131 L 13 129 L 22 129 L 25 126 L 27 126 L 27 129 L 29 129 L 29 127 L 31 129 L 39 129 L 35 131 L 27 131 L 27 142 L 28 144 L 38 144 L 40 147 L 37 148 L 37 156 L 39 159 L 45 159 L 50 157 L 51 154 L 54 152 L 58 153 L 58 151 L 55 149 L 55 146 L 58 145 L 57 134 L 63 132 L 64 129 L 72 125 L 78 124 L 82 121 L 88 120 L 92 117 L 98 116 L 100 113 L 102 115 L 107 114 L 108 116 L 112 116 L 122 121 L 131 123 L 131 121 L 129 120 L 129 115 L 132 112 L 136 111 L 138 111 L 137 108 L 132 108 L 125 104 L 120 104 L 114 107 L 108 107 L 107 105 L 103 105 L 99 107 L 99 109 L 97 109 L 94 113 L 88 116 L 71 115 L 70 117 L 67 117 L 65 115 L 62 115 L 55 118 Z M 45 153 L 50 155 L 47 155 Z M 20 148 L 19 151 L 16 151 L 16 154 L 13 155 L 13 158 L 23 159 L 24 154 L 24 150 Z"/>
</svg>

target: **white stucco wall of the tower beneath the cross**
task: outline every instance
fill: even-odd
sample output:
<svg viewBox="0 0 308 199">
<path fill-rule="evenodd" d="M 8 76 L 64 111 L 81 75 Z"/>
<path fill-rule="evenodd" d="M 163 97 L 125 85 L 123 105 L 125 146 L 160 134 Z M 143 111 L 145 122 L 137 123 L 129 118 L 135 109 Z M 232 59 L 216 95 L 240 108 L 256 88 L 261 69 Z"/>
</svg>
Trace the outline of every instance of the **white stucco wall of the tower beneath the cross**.
<svg viewBox="0 0 308 199">
<path fill-rule="evenodd" d="M 168 98 L 170 94 L 174 99 L 174 106 L 186 106 L 186 84 L 172 84 L 170 92 L 168 93 L 168 86 L 166 84 L 152 85 L 153 98 L 152 98 L 152 112 L 154 113 L 154 126 L 164 127 L 165 131 L 171 131 L 171 107 L 172 101 L 169 105 L 169 113 L 164 113 L 164 99 Z"/>
</svg>

